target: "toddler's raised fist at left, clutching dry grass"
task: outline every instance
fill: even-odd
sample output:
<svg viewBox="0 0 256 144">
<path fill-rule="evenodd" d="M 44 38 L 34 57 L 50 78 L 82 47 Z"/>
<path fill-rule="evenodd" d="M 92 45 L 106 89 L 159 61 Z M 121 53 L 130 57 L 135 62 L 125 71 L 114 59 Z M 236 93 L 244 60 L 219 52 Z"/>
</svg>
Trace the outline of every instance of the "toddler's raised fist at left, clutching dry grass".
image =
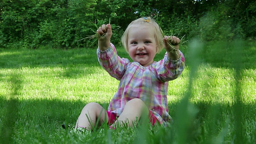
<svg viewBox="0 0 256 144">
<path fill-rule="evenodd" d="M 98 36 L 98 46 L 100 50 L 106 50 L 110 47 L 110 38 L 112 36 L 112 29 L 110 24 L 103 24 L 97 30 Z"/>
</svg>

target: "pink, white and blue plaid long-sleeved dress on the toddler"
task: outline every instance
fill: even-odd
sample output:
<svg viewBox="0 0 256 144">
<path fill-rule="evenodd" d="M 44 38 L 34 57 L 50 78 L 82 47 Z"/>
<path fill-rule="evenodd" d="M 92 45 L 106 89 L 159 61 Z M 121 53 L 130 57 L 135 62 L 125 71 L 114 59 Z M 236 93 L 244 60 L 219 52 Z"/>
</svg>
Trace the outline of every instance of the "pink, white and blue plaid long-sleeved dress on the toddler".
<svg viewBox="0 0 256 144">
<path fill-rule="evenodd" d="M 105 51 L 97 49 L 97 56 L 100 65 L 110 76 L 120 80 L 118 90 L 110 101 L 109 112 L 119 116 L 129 100 L 140 98 L 160 124 L 171 120 L 167 102 L 168 81 L 176 79 L 184 70 L 182 52 L 178 60 L 171 60 L 166 53 L 162 60 L 146 67 L 120 58 L 113 44 Z"/>
</svg>

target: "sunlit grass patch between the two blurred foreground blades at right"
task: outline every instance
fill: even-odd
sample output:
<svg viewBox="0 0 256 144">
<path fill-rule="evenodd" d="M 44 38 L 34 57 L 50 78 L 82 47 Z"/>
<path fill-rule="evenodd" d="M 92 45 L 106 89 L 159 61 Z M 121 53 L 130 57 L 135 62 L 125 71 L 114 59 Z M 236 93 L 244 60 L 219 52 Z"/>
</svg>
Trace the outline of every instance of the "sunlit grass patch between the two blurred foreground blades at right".
<svg viewBox="0 0 256 144">
<path fill-rule="evenodd" d="M 192 89 L 192 101 L 234 103 L 234 70 L 202 65 Z"/>
</svg>

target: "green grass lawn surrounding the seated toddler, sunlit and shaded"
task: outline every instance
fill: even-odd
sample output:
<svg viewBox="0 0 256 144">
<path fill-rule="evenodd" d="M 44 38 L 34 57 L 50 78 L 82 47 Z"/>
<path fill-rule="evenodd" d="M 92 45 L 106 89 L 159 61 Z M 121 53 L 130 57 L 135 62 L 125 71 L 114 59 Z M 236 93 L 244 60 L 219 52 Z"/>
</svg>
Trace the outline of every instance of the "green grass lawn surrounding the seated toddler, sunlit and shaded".
<svg viewBox="0 0 256 144">
<path fill-rule="evenodd" d="M 79 135 L 61 124 L 74 125 L 88 102 L 107 108 L 118 87 L 96 48 L 0 49 L 0 143 L 255 143 L 256 43 L 191 42 L 181 50 L 186 68 L 169 83 L 169 127 L 104 124 Z"/>
</svg>

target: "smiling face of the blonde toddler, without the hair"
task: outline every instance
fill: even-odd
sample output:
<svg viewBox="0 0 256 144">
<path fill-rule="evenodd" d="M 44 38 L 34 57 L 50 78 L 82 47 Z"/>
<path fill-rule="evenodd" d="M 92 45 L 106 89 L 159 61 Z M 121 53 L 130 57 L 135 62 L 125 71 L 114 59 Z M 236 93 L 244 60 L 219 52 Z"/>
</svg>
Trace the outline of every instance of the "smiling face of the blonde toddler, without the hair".
<svg viewBox="0 0 256 144">
<path fill-rule="evenodd" d="M 128 53 L 134 62 L 142 66 L 152 64 L 156 55 L 154 30 L 149 25 L 134 24 L 128 31 Z"/>
</svg>

